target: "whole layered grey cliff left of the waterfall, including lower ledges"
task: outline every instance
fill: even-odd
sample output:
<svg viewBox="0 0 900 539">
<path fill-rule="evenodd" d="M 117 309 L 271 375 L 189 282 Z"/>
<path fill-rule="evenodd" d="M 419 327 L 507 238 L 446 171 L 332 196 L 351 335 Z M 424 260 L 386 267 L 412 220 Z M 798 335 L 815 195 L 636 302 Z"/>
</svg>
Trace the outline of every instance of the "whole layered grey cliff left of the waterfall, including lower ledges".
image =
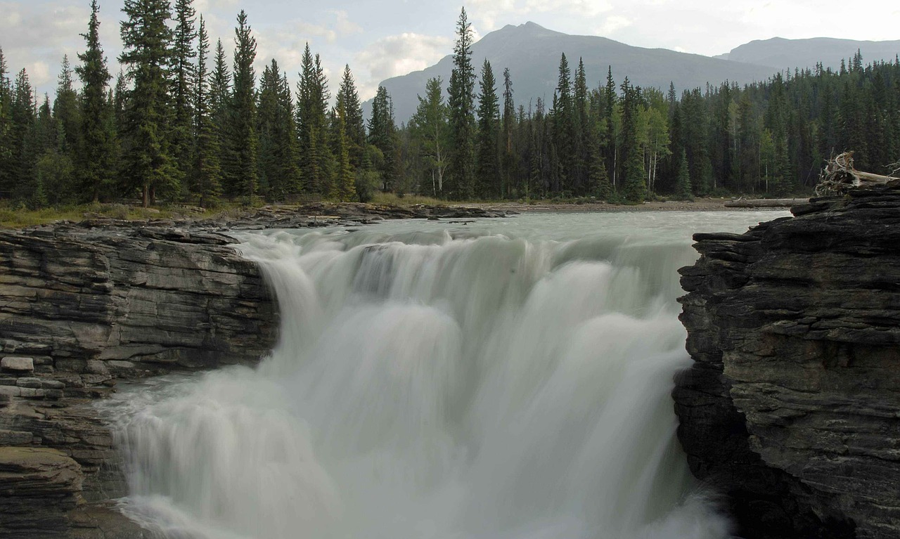
<svg viewBox="0 0 900 539">
<path fill-rule="evenodd" d="M 232 241 L 171 223 L 0 230 L 0 536 L 148 536 L 110 505 L 126 490 L 91 400 L 266 354 L 275 308 Z"/>
</svg>

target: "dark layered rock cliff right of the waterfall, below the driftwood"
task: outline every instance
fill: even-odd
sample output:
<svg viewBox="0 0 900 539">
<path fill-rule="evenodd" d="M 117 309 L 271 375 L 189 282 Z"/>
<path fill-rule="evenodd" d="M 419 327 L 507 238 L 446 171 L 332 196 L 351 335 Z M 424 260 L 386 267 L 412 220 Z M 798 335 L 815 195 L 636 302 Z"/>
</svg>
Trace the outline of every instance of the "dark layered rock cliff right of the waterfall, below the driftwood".
<svg viewBox="0 0 900 539">
<path fill-rule="evenodd" d="M 680 441 L 743 537 L 897 537 L 900 192 L 792 211 L 695 236 Z"/>
</svg>

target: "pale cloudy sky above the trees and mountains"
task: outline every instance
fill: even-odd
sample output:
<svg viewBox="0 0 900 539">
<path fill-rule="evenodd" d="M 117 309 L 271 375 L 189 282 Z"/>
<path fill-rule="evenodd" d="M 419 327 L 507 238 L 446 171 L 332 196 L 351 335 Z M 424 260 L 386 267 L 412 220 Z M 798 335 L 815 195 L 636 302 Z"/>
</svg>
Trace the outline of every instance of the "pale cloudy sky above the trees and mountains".
<svg viewBox="0 0 900 539">
<path fill-rule="evenodd" d="M 123 0 L 99 0 L 100 34 L 110 71 L 118 71 Z M 257 39 L 257 76 L 272 58 L 292 82 L 304 45 L 319 53 L 332 93 L 345 64 L 360 96 L 378 83 L 437 63 L 450 54 L 464 5 L 476 38 L 506 24 L 536 22 L 571 34 L 706 56 L 751 40 L 833 37 L 900 40 L 900 3 L 890 0 L 194 0 L 212 49 L 234 49 L 240 9 Z M 0 0 L 0 48 L 12 76 L 23 67 L 40 94 L 53 97 L 63 55 L 73 66 L 85 48 L 90 1 Z"/>
</svg>

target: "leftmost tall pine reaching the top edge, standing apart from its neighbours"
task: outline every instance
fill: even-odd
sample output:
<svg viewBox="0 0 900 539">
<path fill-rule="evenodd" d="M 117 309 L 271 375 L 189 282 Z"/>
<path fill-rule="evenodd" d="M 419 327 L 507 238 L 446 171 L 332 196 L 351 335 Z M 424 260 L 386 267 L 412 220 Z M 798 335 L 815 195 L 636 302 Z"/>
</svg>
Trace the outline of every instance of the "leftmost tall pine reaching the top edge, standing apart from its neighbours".
<svg viewBox="0 0 900 539">
<path fill-rule="evenodd" d="M 106 99 L 107 85 L 112 78 L 106 69 L 106 58 L 100 47 L 99 7 L 91 2 L 91 19 L 85 38 L 87 49 L 79 54 L 82 61 L 76 72 L 81 78 L 81 146 L 76 165 L 81 175 L 83 193 L 90 200 L 100 200 L 101 190 L 112 184 L 112 110 Z M 85 198 L 86 198 L 85 197 Z"/>
</svg>

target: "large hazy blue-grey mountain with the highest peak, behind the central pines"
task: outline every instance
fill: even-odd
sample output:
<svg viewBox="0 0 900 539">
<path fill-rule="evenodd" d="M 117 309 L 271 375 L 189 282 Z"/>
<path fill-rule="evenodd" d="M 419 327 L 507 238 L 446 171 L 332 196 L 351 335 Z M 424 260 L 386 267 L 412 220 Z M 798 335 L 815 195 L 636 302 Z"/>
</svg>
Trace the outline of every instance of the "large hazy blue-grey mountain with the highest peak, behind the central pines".
<svg viewBox="0 0 900 539">
<path fill-rule="evenodd" d="M 476 73 L 481 73 L 484 58 L 491 62 L 498 81 L 498 94 L 502 93 L 503 69 L 509 67 L 517 106 L 521 103 L 526 108 L 529 101 L 538 97 L 548 104 L 553 101 L 563 52 L 569 59 L 572 76 L 578 67 L 578 58 L 584 59 L 590 87 L 606 84 L 608 66 L 612 66 L 617 85 L 621 85 L 627 76 L 635 85 L 653 86 L 663 91 L 667 91 L 672 82 L 679 93 L 686 88 L 706 86 L 707 82 L 714 85 L 725 80 L 752 83 L 765 80 L 774 73 L 771 67 L 668 49 L 632 47 L 598 36 L 569 35 L 547 30 L 534 22 L 507 25 L 492 31 L 474 43 L 472 51 Z M 435 66 L 383 81 L 382 85 L 392 96 L 397 122 L 410 120 L 419 103 L 416 96 L 425 94 L 425 83 L 429 78 L 440 76 L 446 91 L 452 68 L 453 58 L 448 55 Z M 477 83 L 475 89 L 477 93 Z M 368 109 L 370 104 L 366 103 L 367 110 L 371 110 Z"/>
</svg>

